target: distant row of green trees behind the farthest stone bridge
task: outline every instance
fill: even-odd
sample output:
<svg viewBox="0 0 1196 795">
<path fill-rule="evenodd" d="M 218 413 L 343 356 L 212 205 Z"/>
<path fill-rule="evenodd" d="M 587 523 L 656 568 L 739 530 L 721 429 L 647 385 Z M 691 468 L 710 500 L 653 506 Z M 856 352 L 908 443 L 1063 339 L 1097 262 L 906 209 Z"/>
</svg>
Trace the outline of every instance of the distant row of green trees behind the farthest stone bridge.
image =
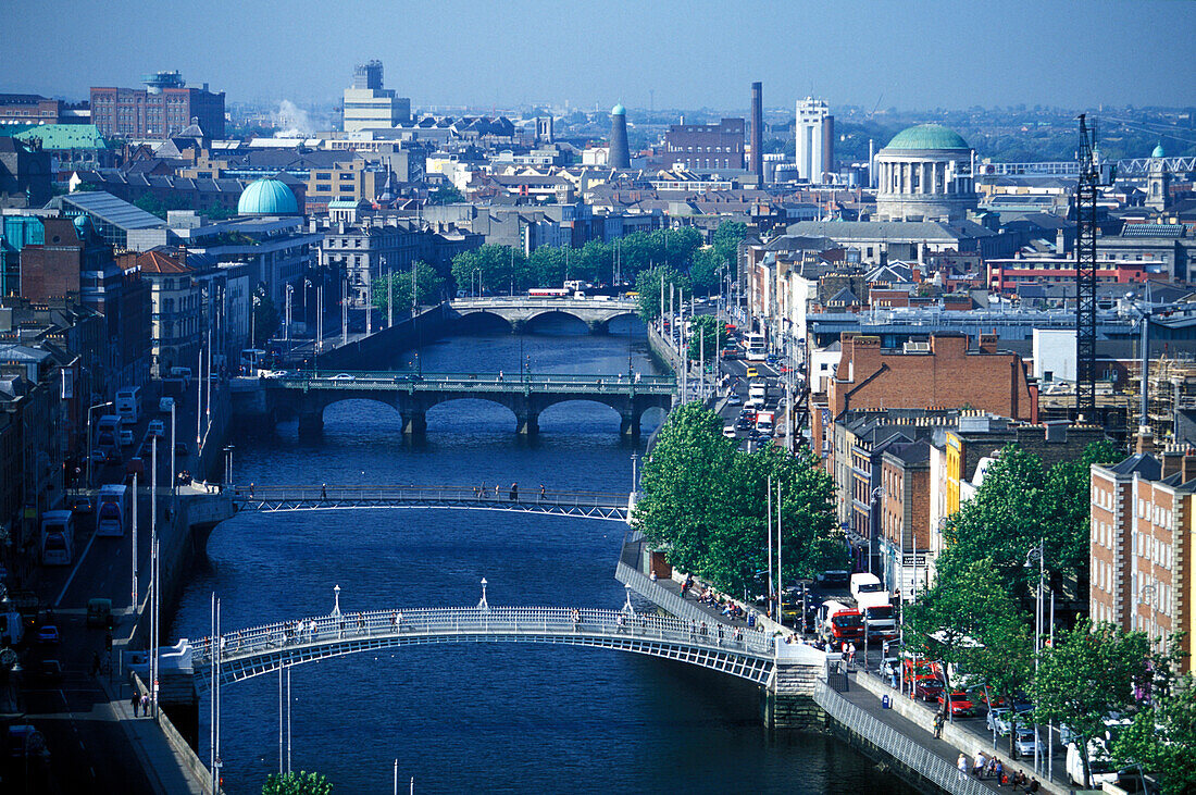
<svg viewBox="0 0 1196 795">
<path fill-rule="evenodd" d="M 519 293 L 532 287 L 560 287 L 570 280 L 614 283 L 616 274 L 631 280 L 642 271 L 666 268 L 671 274 L 688 274 L 685 289 L 706 295 L 719 289 L 719 269 L 733 268 L 739 241 L 746 234 L 746 225 L 724 221 L 713 243 L 704 247 L 697 230 L 681 227 L 634 232 L 612 243 L 591 240 L 579 249 L 539 246 L 530 256 L 489 243 L 453 257 L 452 279 L 457 289 Z"/>
</svg>

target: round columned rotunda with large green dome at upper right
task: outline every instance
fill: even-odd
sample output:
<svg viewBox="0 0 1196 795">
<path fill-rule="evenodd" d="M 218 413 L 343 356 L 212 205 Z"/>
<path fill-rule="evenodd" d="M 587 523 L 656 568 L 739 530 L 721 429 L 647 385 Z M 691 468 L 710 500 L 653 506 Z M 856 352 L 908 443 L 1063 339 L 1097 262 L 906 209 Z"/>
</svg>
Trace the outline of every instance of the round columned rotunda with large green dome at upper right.
<svg viewBox="0 0 1196 795">
<path fill-rule="evenodd" d="M 902 130 L 875 157 L 878 221 L 963 221 L 976 209 L 975 155 L 941 124 Z"/>
</svg>

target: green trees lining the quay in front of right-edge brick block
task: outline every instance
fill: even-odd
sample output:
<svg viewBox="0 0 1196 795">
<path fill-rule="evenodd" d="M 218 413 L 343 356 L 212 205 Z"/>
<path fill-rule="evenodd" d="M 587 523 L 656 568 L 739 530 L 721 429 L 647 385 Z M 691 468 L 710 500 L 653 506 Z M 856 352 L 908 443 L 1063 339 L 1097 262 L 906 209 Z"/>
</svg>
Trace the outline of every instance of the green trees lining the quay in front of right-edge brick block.
<svg viewBox="0 0 1196 795">
<path fill-rule="evenodd" d="M 1024 720 L 1066 724 L 1080 747 L 1105 739 L 1110 715 L 1133 716 L 1131 729 L 1111 744 L 1113 758 L 1159 771 L 1166 793 L 1189 791 L 1196 701 L 1191 677 L 1178 677 L 1179 661 L 1163 650 L 1178 648 L 1176 638 L 1152 644 L 1142 632 L 1081 620 L 1054 632 L 1052 643 L 1043 628 L 1036 655 L 1039 565 L 1031 550 L 1041 549 L 1045 588 L 1087 601 L 1090 466 L 1117 458 L 1106 442 L 1055 466 L 1015 445 L 1001 451 L 976 495 L 947 520 L 935 581 L 904 611 L 905 640 L 941 660 L 944 674 L 965 672 L 994 698 L 1029 693 L 1035 713 Z"/>
</svg>

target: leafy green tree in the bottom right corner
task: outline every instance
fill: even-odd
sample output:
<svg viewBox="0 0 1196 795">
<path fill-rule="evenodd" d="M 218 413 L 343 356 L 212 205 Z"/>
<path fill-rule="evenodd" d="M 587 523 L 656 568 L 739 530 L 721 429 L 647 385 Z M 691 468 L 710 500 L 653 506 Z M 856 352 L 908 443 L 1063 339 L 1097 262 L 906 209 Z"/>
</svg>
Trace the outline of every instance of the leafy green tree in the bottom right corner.
<svg viewBox="0 0 1196 795">
<path fill-rule="evenodd" d="M 1196 793 L 1196 679 L 1184 674 L 1153 708 L 1139 710 L 1134 722 L 1113 739 L 1121 764 L 1139 763 L 1161 777 L 1164 795 Z"/>
</svg>

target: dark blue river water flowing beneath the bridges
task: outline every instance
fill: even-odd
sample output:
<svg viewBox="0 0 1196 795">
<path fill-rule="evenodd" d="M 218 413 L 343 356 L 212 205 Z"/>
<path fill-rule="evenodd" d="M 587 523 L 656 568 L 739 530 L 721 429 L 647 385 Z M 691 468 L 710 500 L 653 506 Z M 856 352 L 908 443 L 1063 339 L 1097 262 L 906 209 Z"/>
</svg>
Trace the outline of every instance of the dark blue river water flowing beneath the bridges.
<svg viewBox="0 0 1196 795">
<path fill-rule="evenodd" d="M 616 331 L 621 330 L 618 326 Z M 629 325 L 622 329 L 634 331 Z M 478 334 L 421 350 L 428 372 L 649 372 L 641 334 L 593 337 Z M 641 330 L 642 331 L 642 330 Z M 409 360 L 408 354 L 404 359 Z M 663 418 L 645 417 L 645 439 Z M 318 440 L 294 424 L 236 439 L 240 483 L 413 483 L 627 491 L 631 453 L 606 406 L 545 411 L 520 439 L 505 408 L 462 400 L 428 414 L 427 441 L 404 441 L 393 409 L 329 406 Z M 209 631 L 209 595 L 225 631 L 344 611 L 476 605 L 617 609 L 620 522 L 469 510 L 244 515 L 208 543 L 210 565 L 188 582 L 173 637 Z M 909 793 L 828 738 L 761 726 L 756 687 L 724 674 L 603 649 L 439 644 L 352 655 L 292 671 L 292 766 L 325 773 L 338 793 Z M 279 769 L 279 679 L 226 686 L 221 756 L 230 793 L 260 793 Z M 208 759 L 201 705 L 200 758 Z M 404 790 L 405 791 L 405 790 Z"/>
</svg>

